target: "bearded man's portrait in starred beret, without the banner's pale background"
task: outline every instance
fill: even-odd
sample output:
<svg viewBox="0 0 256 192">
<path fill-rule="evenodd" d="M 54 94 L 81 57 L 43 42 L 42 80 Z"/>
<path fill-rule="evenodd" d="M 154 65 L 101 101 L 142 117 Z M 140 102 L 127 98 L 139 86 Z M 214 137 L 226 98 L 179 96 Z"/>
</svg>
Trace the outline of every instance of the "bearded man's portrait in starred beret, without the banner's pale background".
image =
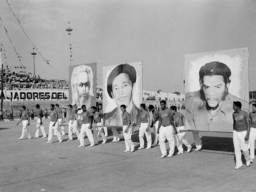
<svg viewBox="0 0 256 192">
<path fill-rule="evenodd" d="M 244 99 L 229 93 L 230 76 L 230 68 L 219 61 L 200 68 L 200 90 L 185 96 L 187 129 L 233 131 L 233 101 L 244 103 Z"/>
</svg>

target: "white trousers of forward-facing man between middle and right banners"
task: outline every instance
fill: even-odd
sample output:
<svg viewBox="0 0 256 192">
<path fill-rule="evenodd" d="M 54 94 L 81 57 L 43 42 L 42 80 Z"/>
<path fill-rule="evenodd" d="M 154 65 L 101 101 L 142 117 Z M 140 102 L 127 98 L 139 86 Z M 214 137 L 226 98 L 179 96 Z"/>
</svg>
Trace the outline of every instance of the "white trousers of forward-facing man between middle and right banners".
<svg viewBox="0 0 256 192">
<path fill-rule="evenodd" d="M 163 127 L 163 125 L 161 125 L 160 129 L 159 129 L 159 143 L 160 143 L 160 150 L 162 155 L 167 155 L 166 152 L 166 146 L 165 146 L 165 139 L 167 139 L 168 143 L 169 143 L 169 147 L 170 147 L 170 151 L 169 154 L 174 153 L 174 138 L 173 138 L 173 126 L 169 125 L 166 127 Z"/>
</svg>

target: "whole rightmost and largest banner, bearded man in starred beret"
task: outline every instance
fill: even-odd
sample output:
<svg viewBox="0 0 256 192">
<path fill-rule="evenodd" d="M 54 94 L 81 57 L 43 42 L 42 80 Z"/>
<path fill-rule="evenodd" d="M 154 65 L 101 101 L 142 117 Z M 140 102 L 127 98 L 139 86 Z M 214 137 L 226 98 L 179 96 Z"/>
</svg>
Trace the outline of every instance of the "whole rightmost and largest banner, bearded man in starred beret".
<svg viewBox="0 0 256 192">
<path fill-rule="evenodd" d="M 186 129 L 233 132 L 233 102 L 249 112 L 248 48 L 185 55 Z"/>
</svg>

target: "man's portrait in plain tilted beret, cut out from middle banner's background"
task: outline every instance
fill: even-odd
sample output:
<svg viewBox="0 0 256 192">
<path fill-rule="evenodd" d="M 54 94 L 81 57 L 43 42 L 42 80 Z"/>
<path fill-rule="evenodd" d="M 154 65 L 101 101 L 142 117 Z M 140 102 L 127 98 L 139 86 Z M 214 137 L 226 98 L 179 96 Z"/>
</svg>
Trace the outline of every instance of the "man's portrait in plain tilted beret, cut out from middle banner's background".
<svg viewBox="0 0 256 192">
<path fill-rule="evenodd" d="M 136 83 L 135 67 L 129 64 L 117 65 L 107 78 L 107 96 L 114 99 L 117 107 L 103 114 L 105 125 L 122 125 L 122 111 L 120 106 L 125 105 L 131 115 L 131 125 L 137 126 L 139 108 L 133 102 L 134 84 Z M 104 98 L 103 98 L 104 99 Z M 103 100 L 103 104 L 104 100 Z"/>
</svg>

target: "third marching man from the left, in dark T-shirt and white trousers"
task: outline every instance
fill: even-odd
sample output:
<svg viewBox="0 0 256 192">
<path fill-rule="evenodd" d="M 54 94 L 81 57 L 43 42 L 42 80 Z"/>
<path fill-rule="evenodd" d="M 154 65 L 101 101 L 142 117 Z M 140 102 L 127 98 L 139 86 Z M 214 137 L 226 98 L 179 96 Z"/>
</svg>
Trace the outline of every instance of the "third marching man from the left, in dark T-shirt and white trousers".
<svg viewBox="0 0 256 192">
<path fill-rule="evenodd" d="M 59 128 L 59 121 L 58 121 L 58 113 L 56 110 L 54 110 L 54 105 L 51 104 L 50 105 L 50 124 L 49 124 L 49 133 L 48 133 L 48 143 L 52 143 L 52 134 L 53 131 L 56 133 L 59 142 L 62 142 L 61 139 L 61 133 L 59 132 L 58 128 Z"/>
</svg>

